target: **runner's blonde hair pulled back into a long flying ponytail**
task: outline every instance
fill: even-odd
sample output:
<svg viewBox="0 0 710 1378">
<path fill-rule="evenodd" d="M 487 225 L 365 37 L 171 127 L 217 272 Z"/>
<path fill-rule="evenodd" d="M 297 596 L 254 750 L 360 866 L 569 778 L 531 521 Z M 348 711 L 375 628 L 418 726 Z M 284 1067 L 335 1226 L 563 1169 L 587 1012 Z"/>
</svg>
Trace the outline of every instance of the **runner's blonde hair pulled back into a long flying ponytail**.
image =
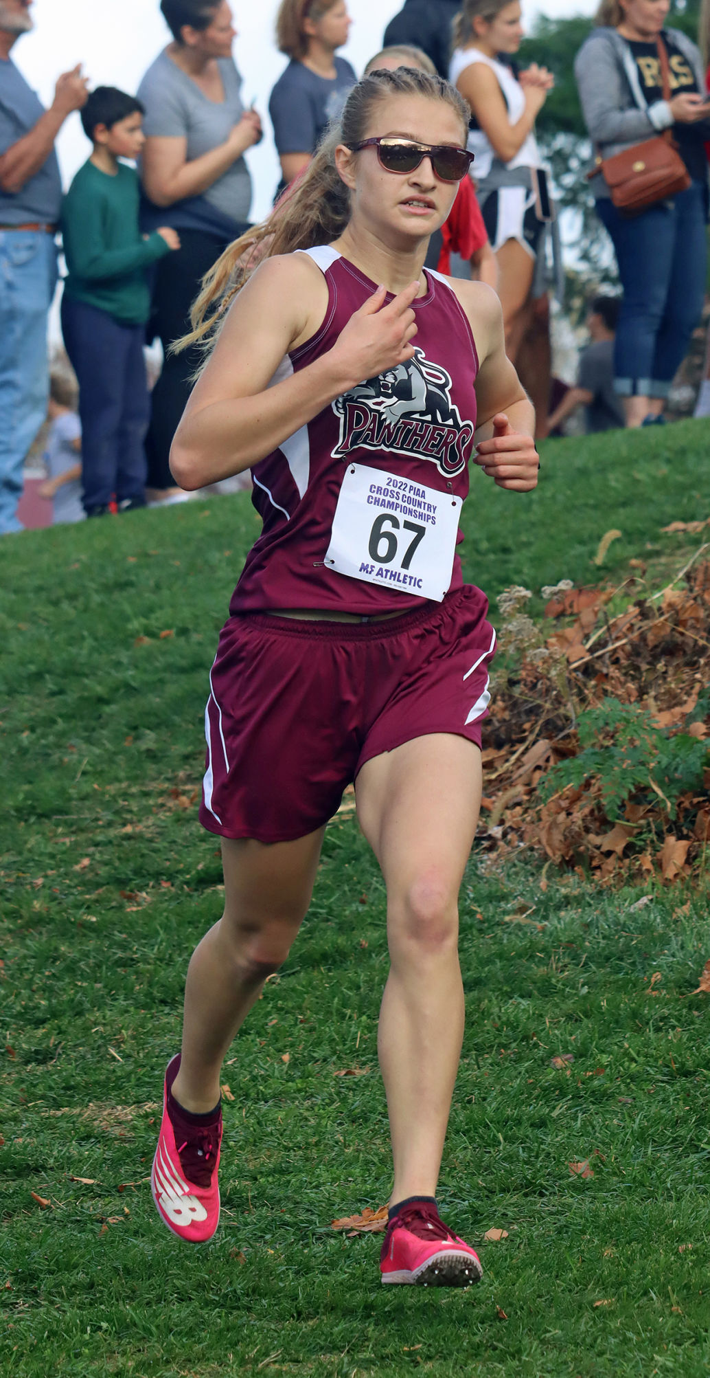
<svg viewBox="0 0 710 1378">
<path fill-rule="evenodd" d="M 443 77 L 414 68 L 372 72 L 363 77 L 349 91 L 340 121 L 330 125 L 307 171 L 292 183 L 268 219 L 230 244 L 205 274 L 191 310 L 193 329 L 173 344 L 175 351 L 200 342 L 205 349 L 212 346 L 227 309 L 261 259 L 329 244 L 343 234 L 351 205 L 348 187 L 336 167 L 336 149 L 338 143 L 347 147 L 359 143 L 366 136 L 372 110 L 391 95 L 421 95 L 450 105 L 461 120 L 465 143 L 471 110 Z"/>
</svg>

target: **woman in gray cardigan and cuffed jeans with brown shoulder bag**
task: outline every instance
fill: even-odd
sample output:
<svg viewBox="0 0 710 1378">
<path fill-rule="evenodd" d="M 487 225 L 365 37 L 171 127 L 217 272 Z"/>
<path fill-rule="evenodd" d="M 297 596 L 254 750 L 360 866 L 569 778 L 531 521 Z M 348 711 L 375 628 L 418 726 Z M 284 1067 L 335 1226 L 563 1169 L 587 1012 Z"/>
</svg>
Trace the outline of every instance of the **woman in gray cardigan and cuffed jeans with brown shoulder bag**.
<svg viewBox="0 0 710 1378">
<path fill-rule="evenodd" d="M 669 0 L 603 0 L 597 29 L 575 59 L 582 112 L 601 157 L 671 130 L 691 176 L 685 192 L 634 216 L 614 205 L 601 174 L 592 182 L 623 287 L 614 365 L 627 426 L 663 419 L 704 295 L 710 106 L 700 54 L 678 29 L 663 28 L 667 11 Z M 670 101 L 658 37 L 669 55 Z"/>
</svg>

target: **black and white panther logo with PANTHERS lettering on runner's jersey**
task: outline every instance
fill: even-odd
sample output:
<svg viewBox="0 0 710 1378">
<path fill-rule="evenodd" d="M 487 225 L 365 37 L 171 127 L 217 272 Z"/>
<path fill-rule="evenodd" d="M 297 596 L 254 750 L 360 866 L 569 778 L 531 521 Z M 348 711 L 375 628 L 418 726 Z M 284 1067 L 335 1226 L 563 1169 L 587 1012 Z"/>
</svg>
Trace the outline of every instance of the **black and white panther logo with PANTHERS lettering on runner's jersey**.
<svg viewBox="0 0 710 1378">
<path fill-rule="evenodd" d="M 428 459 L 447 477 L 466 466 L 473 423 L 461 420 L 451 401 L 450 375 L 421 349 L 405 364 L 336 397 L 333 411 L 340 418 L 333 459 L 347 459 L 354 449 L 388 449 Z"/>
</svg>

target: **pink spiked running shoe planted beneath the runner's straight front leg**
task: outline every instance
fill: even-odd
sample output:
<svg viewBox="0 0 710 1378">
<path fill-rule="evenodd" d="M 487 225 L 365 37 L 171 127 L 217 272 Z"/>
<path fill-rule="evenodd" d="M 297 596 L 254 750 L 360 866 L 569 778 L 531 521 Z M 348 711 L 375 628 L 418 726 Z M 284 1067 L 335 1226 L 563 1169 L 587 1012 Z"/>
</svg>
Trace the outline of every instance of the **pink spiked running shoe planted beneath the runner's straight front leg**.
<svg viewBox="0 0 710 1378">
<path fill-rule="evenodd" d="M 451 1233 L 433 1202 L 413 1202 L 389 1221 L 380 1272 L 384 1283 L 422 1287 L 469 1287 L 483 1276 L 479 1255 Z"/>
</svg>

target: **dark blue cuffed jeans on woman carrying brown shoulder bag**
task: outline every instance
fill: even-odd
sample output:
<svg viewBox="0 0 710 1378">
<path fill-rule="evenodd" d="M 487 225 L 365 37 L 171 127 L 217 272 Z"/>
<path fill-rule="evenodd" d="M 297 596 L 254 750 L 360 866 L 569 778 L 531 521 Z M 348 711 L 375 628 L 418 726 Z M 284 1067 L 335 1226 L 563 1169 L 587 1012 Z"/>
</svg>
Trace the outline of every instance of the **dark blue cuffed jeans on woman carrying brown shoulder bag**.
<svg viewBox="0 0 710 1378">
<path fill-rule="evenodd" d="M 703 309 L 706 205 L 702 182 L 634 216 L 608 197 L 597 201 L 623 288 L 614 344 L 614 387 L 622 397 L 667 397 L 685 357 Z"/>
</svg>

